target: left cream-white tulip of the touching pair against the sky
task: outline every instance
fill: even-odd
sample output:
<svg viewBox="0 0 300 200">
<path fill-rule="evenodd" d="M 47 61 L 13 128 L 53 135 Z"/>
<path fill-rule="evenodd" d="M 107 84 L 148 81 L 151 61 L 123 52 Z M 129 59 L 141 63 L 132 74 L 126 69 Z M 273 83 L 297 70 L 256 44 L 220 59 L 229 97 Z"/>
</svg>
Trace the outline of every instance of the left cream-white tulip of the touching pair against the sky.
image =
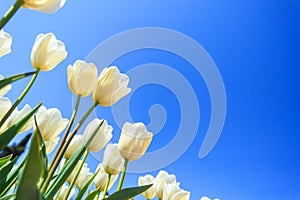
<svg viewBox="0 0 300 200">
<path fill-rule="evenodd" d="M 93 63 L 77 60 L 68 66 L 68 85 L 73 94 L 89 96 L 97 83 L 98 69 Z"/>
</svg>

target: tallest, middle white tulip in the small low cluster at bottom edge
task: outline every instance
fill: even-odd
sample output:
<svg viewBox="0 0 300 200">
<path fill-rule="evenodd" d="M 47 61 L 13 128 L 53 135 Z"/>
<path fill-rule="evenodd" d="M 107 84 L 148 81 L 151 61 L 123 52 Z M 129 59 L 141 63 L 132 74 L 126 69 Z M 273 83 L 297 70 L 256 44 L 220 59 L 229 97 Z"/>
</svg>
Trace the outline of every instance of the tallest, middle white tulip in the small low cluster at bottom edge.
<svg viewBox="0 0 300 200">
<path fill-rule="evenodd" d="M 159 171 L 158 175 L 154 180 L 154 188 L 156 192 L 156 196 L 159 199 L 163 198 L 165 191 L 165 184 L 175 184 L 176 176 L 174 174 L 169 175 L 166 171 Z"/>
</svg>

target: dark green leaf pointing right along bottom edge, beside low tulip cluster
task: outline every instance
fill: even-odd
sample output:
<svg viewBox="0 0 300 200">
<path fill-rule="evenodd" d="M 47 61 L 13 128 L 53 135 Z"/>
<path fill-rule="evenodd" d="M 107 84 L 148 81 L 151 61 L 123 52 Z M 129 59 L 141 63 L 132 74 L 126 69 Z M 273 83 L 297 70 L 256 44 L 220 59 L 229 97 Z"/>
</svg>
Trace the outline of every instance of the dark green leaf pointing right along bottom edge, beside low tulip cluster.
<svg viewBox="0 0 300 200">
<path fill-rule="evenodd" d="M 110 195 L 105 200 L 128 200 L 148 190 L 153 184 L 140 187 L 125 188 Z"/>
</svg>

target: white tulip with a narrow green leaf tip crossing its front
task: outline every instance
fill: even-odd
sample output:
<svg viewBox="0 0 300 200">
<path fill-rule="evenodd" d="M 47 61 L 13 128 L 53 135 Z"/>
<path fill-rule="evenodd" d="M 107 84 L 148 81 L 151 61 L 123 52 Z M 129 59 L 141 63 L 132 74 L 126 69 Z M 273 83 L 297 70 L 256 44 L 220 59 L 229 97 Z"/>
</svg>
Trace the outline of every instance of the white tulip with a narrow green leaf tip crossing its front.
<svg viewBox="0 0 300 200">
<path fill-rule="evenodd" d="M 90 139 L 102 121 L 103 120 L 96 118 L 87 125 L 83 133 L 83 141 L 87 142 Z M 89 144 L 88 149 L 93 152 L 100 151 L 112 138 L 112 130 L 113 128 L 107 124 L 106 120 L 104 120 L 92 142 Z"/>
</svg>

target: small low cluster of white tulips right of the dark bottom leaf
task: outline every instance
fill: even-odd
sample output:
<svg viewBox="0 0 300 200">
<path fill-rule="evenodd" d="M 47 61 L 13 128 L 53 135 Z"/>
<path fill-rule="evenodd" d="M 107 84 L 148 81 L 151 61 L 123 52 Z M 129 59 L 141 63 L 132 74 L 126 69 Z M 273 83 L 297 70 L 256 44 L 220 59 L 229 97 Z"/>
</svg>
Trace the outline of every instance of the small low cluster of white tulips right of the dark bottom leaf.
<svg viewBox="0 0 300 200">
<path fill-rule="evenodd" d="M 176 176 L 163 170 L 155 178 L 150 174 L 139 177 L 138 184 L 139 186 L 153 184 L 142 193 L 146 199 L 153 199 L 155 196 L 162 200 L 190 199 L 190 192 L 179 187 L 180 183 L 176 181 Z"/>
</svg>

